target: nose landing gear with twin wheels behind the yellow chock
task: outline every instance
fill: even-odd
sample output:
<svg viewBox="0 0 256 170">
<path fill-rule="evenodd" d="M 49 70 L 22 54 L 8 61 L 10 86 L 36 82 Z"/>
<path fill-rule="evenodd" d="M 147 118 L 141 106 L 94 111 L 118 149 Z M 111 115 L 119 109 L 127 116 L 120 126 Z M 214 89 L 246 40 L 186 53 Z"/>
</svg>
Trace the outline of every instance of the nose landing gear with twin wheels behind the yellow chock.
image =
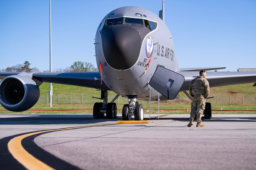
<svg viewBox="0 0 256 170">
<path fill-rule="evenodd" d="M 135 120 L 144 119 L 144 111 L 141 104 L 137 102 L 136 96 L 128 96 L 129 104 L 125 104 L 122 111 L 123 120 L 131 120 L 134 116 Z"/>
</svg>

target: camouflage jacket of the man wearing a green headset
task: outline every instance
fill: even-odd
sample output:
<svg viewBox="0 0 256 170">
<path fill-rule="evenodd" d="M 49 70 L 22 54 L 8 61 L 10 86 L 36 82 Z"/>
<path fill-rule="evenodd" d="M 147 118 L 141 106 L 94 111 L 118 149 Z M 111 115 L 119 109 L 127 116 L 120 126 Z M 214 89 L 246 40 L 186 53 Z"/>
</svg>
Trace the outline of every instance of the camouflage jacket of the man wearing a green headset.
<svg viewBox="0 0 256 170">
<path fill-rule="evenodd" d="M 190 96 L 202 95 L 205 98 L 208 97 L 210 92 L 210 86 L 208 81 L 203 76 L 197 76 L 190 82 L 189 94 Z"/>
</svg>

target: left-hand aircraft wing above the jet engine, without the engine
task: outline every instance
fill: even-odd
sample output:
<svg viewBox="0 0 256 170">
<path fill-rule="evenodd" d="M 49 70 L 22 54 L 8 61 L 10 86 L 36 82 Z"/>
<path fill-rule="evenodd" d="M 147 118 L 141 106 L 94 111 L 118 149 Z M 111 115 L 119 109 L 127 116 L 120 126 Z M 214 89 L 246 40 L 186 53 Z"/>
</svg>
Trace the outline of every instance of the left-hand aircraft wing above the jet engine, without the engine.
<svg viewBox="0 0 256 170">
<path fill-rule="evenodd" d="M 99 72 L 92 72 L 92 73 L 0 72 L 0 79 L 3 79 L 11 75 L 29 77 L 33 80 L 36 79 L 37 83 L 39 81 L 39 85 L 42 82 L 46 82 L 46 83 L 57 83 L 57 84 L 66 84 L 66 85 L 110 90 L 103 81 L 101 83 L 101 76 Z M 94 77 L 96 77 L 95 80 L 93 80 Z"/>
</svg>

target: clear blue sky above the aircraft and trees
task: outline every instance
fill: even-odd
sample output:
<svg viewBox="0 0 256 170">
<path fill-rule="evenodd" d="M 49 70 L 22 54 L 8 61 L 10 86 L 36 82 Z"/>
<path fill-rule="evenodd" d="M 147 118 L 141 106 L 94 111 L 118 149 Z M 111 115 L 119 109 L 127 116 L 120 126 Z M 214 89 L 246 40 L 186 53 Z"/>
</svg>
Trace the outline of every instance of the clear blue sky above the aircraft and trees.
<svg viewBox="0 0 256 170">
<path fill-rule="evenodd" d="M 96 67 L 94 38 L 103 17 L 122 6 L 155 14 L 161 0 L 51 1 L 52 69 L 75 61 Z M 31 63 L 49 70 L 49 0 L 0 1 L 0 69 Z M 165 23 L 180 68 L 256 68 L 256 1 L 165 1 Z"/>
</svg>

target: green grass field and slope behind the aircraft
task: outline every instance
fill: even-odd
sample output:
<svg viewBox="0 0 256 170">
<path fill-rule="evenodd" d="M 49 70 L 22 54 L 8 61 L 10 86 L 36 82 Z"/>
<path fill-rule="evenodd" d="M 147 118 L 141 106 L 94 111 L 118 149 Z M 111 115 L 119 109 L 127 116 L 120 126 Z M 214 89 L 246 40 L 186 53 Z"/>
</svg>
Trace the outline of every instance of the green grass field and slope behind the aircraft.
<svg viewBox="0 0 256 170">
<path fill-rule="evenodd" d="M 210 96 L 230 96 L 230 98 L 238 98 L 238 96 L 249 96 L 249 100 L 255 100 L 256 97 L 256 88 L 252 87 L 254 83 L 241 84 L 241 85 L 232 85 L 232 86 L 223 86 L 223 87 L 213 87 L 210 88 Z M 98 95 L 100 96 L 100 91 L 92 88 L 79 87 L 79 86 L 69 86 L 61 84 L 52 84 L 53 85 L 53 94 L 57 95 L 84 95 L 91 99 L 90 104 L 53 104 L 52 107 L 49 107 L 49 104 L 35 104 L 30 110 L 25 112 L 10 112 L 6 111 L 2 106 L 0 106 L 0 114 L 92 114 L 93 108 L 93 99 L 91 96 Z M 41 95 L 48 95 L 49 83 L 43 83 L 40 87 Z M 109 96 L 115 96 L 113 91 L 109 91 Z M 186 98 L 186 95 L 181 92 L 180 96 Z M 112 98 L 109 97 L 109 100 Z M 123 102 L 127 102 L 126 98 L 122 98 Z M 229 97 L 227 98 L 229 100 Z M 95 101 L 99 102 L 99 101 Z M 160 114 L 189 114 L 190 113 L 190 104 L 188 102 L 182 102 L 181 104 L 177 102 L 172 102 L 169 100 L 168 104 L 166 101 L 160 103 L 159 113 Z M 211 103 L 216 103 L 209 101 Z M 227 101 L 229 102 L 229 101 Z M 39 102 L 38 102 L 39 103 Z M 47 103 L 47 102 L 45 102 Z M 116 103 L 118 103 L 116 101 Z M 128 103 L 128 102 L 127 102 Z M 140 104 L 143 104 L 144 113 L 147 114 L 149 110 L 149 104 L 147 101 L 139 101 Z M 240 102 L 241 103 L 241 102 Z M 253 101 L 253 104 L 212 104 L 212 114 L 256 114 L 256 103 Z M 254 104 L 255 103 L 255 104 Z M 122 114 L 123 103 L 118 104 L 118 114 Z M 222 108 L 222 111 L 221 111 Z M 60 110 L 61 111 L 54 111 Z M 68 110 L 70 109 L 70 110 Z M 76 109 L 76 110 L 75 110 Z M 152 104 L 151 109 L 157 109 L 157 104 Z M 187 112 L 188 109 L 188 112 Z M 3 111 L 5 110 L 5 111 Z M 37 110 L 37 111 L 36 111 Z M 40 111 L 38 111 L 40 110 Z M 224 111 L 225 110 L 225 111 Z M 232 111 L 226 111 L 232 110 Z M 242 110 L 242 111 L 240 111 Z M 253 110 L 253 111 L 251 111 Z M 157 113 L 157 111 L 152 111 L 151 113 Z"/>
</svg>

